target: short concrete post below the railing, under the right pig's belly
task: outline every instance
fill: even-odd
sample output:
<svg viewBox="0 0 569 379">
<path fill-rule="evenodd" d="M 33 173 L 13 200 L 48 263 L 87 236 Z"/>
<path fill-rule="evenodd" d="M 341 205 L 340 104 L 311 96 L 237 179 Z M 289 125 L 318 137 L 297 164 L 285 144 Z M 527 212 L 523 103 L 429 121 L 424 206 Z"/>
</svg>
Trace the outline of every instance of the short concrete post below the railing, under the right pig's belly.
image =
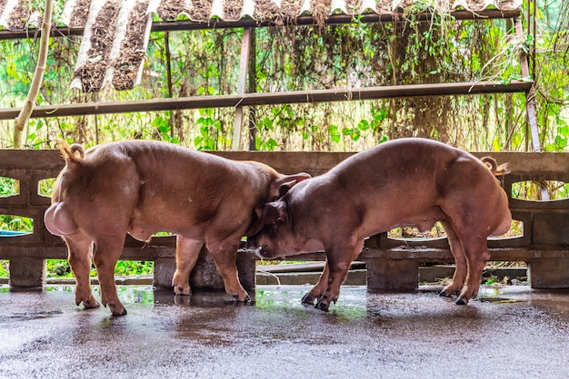
<svg viewBox="0 0 569 379">
<path fill-rule="evenodd" d="M 413 259 L 365 259 L 367 268 L 367 287 L 414 291 L 419 286 L 419 264 Z"/>
</svg>

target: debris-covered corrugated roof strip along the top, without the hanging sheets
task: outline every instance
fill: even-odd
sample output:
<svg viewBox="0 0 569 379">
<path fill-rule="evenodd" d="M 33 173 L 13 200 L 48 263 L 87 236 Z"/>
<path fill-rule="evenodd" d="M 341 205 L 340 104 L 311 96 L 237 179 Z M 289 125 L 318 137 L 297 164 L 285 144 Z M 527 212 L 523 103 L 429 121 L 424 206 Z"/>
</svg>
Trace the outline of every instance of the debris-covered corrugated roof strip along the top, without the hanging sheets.
<svg viewBox="0 0 569 379">
<path fill-rule="evenodd" d="M 120 7 L 132 6 L 132 1 L 117 0 L 67 0 L 65 1 L 63 25 L 84 26 L 91 8 L 115 1 Z M 328 16 L 335 14 L 378 15 L 404 10 L 411 6 L 436 7 L 442 10 L 486 9 L 512 10 L 522 5 L 522 0 L 141 0 L 147 4 L 147 12 L 162 20 L 174 20 L 185 15 L 195 22 L 212 19 L 237 21 L 251 17 L 267 21 L 285 17 L 294 21 L 301 15 Z M 0 0 L 0 26 L 9 30 L 37 27 L 41 10 L 30 10 L 31 0 Z M 59 25 L 62 26 L 62 25 Z"/>
</svg>

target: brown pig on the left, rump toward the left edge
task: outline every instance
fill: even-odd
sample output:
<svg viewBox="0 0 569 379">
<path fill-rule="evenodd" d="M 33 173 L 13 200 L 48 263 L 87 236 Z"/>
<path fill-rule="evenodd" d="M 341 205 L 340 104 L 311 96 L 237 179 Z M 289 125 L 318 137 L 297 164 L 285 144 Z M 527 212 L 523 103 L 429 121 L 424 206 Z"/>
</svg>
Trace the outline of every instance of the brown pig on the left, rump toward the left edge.
<svg viewBox="0 0 569 379">
<path fill-rule="evenodd" d="M 235 258 L 241 238 L 251 233 L 255 206 L 309 178 L 158 141 L 111 142 L 88 151 L 59 141 L 59 149 L 66 164 L 45 211 L 45 227 L 65 239 L 77 305 L 99 306 L 89 284 L 93 259 L 101 301 L 115 316 L 126 314 L 114 270 L 127 232 L 141 241 L 159 231 L 177 235 L 176 293 L 189 295 L 189 275 L 205 244 L 227 293 L 249 300 Z"/>
</svg>

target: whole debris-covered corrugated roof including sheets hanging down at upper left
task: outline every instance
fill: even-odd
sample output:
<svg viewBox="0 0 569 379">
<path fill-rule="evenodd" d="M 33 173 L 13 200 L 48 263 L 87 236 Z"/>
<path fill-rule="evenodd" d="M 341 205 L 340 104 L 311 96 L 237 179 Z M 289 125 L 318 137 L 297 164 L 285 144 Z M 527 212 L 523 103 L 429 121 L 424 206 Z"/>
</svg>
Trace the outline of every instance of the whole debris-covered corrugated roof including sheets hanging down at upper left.
<svg viewBox="0 0 569 379">
<path fill-rule="evenodd" d="M 296 18 L 308 15 L 321 24 L 331 15 L 394 15 L 412 7 L 478 13 L 514 10 L 521 5 L 522 0 L 67 0 L 59 18 L 65 26 L 85 27 L 71 86 L 96 92 L 108 83 L 118 90 L 139 83 L 156 19 L 173 21 L 185 16 L 196 23 L 253 19 L 294 24 Z M 41 14 L 30 7 L 31 0 L 0 0 L 0 27 L 37 27 Z"/>
</svg>

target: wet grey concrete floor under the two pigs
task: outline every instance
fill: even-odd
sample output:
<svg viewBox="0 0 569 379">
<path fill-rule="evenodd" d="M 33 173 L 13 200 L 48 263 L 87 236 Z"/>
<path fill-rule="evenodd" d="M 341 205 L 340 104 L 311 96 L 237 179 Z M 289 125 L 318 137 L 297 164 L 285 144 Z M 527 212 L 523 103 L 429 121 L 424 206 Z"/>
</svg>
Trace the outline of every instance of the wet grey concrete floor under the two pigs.
<svg viewBox="0 0 569 379">
<path fill-rule="evenodd" d="M 468 306 L 433 288 L 343 287 L 330 313 L 308 286 L 225 294 L 119 287 L 128 315 L 75 306 L 73 287 L 0 287 L 0 377 L 566 378 L 569 291 L 484 287 Z"/>
</svg>

